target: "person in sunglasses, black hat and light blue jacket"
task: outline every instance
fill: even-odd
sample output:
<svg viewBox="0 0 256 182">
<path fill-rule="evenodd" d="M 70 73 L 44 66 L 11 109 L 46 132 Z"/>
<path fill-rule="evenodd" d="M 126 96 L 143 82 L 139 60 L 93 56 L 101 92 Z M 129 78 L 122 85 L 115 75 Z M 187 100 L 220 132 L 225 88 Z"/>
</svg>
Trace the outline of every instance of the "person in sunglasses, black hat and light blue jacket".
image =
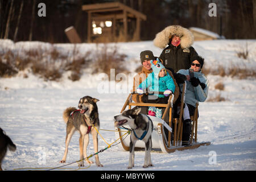
<svg viewBox="0 0 256 182">
<path fill-rule="evenodd" d="M 196 109 L 197 102 L 204 102 L 208 96 L 209 81 L 201 72 L 204 65 L 204 58 L 196 56 L 193 58 L 189 74 L 189 69 L 180 69 L 177 73 L 187 76 L 187 88 L 185 94 L 185 106 L 183 110 L 183 137 L 182 144 L 187 145 L 191 135 L 191 118 Z M 182 89 L 183 85 L 180 86 Z"/>
</svg>

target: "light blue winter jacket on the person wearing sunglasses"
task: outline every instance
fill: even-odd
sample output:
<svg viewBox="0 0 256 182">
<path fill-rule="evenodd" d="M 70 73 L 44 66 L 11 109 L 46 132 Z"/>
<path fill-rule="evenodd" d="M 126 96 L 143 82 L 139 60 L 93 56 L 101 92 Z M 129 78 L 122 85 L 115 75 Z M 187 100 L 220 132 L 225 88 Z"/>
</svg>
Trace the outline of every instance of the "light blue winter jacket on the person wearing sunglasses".
<svg viewBox="0 0 256 182">
<path fill-rule="evenodd" d="M 180 73 L 182 75 L 189 75 L 189 69 L 180 69 L 177 73 Z M 205 75 L 200 72 L 194 72 L 194 76 L 196 78 L 199 78 L 201 83 L 205 84 L 204 90 L 201 88 L 201 85 L 193 86 L 190 81 L 187 82 L 187 89 L 185 94 L 185 103 L 190 104 L 194 107 L 196 107 L 196 102 L 204 102 L 207 99 L 208 96 L 208 90 L 209 90 L 209 80 Z M 180 88 L 182 90 L 183 85 L 180 85 Z"/>
</svg>

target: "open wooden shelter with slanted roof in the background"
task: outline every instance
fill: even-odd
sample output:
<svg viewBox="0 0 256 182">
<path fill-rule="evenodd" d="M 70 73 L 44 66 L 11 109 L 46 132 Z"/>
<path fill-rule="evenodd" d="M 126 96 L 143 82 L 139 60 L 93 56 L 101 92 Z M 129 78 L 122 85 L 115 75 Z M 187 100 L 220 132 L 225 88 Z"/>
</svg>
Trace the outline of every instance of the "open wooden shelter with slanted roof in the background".
<svg viewBox="0 0 256 182">
<path fill-rule="evenodd" d="M 82 5 L 88 13 L 88 42 L 127 42 L 141 39 L 146 15 L 119 2 Z"/>
</svg>

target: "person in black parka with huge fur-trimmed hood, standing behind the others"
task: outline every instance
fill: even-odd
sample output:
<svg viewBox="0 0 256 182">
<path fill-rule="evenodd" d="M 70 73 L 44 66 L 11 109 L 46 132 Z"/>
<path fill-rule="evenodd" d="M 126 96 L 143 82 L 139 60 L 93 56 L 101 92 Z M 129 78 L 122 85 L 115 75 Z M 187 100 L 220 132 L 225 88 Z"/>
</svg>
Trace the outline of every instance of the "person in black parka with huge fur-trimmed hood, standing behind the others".
<svg viewBox="0 0 256 182">
<path fill-rule="evenodd" d="M 193 44 L 193 34 L 181 26 L 168 26 L 156 34 L 154 45 L 162 48 L 160 59 L 164 67 L 175 73 L 180 69 L 188 69 L 194 57 L 198 56 Z M 166 47 L 168 46 L 168 47 Z"/>
</svg>

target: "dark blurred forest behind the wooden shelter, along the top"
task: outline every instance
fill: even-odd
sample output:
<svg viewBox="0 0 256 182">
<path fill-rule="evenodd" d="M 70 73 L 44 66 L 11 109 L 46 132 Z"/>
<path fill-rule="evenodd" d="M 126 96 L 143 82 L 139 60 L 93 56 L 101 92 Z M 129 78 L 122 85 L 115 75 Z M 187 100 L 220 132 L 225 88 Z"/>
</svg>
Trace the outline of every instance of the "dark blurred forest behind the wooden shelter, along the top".
<svg viewBox="0 0 256 182">
<path fill-rule="evenodd" d="M 87 13 L 81 6 L 110 0 L 0 0 L 0 39 L 68 43 L 65 28 L 74 26 L 87 40 Z M 142 21 L 141 39 L 152 40 L 163 28 L 179 24 L 200 27 L 226 39 L 256 38 L 255 0 L 119 0 L 147 16 Z M 39 16 L 39 3 L 46 16 Z M 216 4 L 216 16 L 209 16 L 209 3 Z"/>
</svg>

